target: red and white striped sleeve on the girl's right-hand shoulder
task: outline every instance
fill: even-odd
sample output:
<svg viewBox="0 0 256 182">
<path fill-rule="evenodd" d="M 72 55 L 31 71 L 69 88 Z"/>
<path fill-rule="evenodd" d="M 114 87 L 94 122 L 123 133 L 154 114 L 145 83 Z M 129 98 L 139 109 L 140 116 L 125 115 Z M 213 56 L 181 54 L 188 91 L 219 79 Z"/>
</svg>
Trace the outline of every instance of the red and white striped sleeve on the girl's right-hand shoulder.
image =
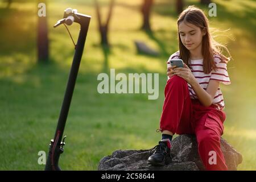
<svg viewBox="0 0 256 182">
<path fill-rule="evenodd" d="M 231 81 L 227 70 L 226 62 L 221 59 L 220 56 L 214 56 L 214 62 L 217 66 L 216 71 L 212 71 L 210 80 L 216 80 L 222 82 L 222 84 L 229 85 Z"/>
</svg>

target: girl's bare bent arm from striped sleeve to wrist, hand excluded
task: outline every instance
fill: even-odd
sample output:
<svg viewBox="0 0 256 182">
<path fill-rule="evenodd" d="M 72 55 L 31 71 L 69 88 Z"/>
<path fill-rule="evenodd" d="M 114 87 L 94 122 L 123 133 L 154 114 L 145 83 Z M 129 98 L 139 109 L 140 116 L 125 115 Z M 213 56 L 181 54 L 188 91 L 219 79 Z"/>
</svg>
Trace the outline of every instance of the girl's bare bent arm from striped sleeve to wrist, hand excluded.
<svg viewBox="0 0 256 182">
<path fill-rule="evenodd" d="M 197 82 L 196 79 L 192 81 L 190 85 L 195 91 L 196 96 L 197 98 L 199 98 L 201 104 L 203 104 L 205 107 L 209 107 L 210 105 L 212 105 L 214 96 L 217 92 L 220 82 L 216 80 L 210 80 L 207 86 L 207 90 L 201 88 L 199 82 Z"/>
</svg>

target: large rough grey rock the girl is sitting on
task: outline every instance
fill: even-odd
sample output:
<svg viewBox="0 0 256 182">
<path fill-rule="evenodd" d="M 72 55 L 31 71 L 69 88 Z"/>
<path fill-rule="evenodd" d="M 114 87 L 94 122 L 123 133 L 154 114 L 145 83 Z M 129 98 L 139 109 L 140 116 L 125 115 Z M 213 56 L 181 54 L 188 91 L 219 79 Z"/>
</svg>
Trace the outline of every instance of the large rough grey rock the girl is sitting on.
<svg viewBox="0 0 256 182">
<path fill-rule="evenodd" d="M 98 170 L 205 170 L 198 151 L 194 135 L 179 135 L 172 140 L 171 158 L 163 167 L 147 164 L 150 150 L 117 150 L 112 155 L 100 160 Z M 242 155 L 237 152 L 226 140 L 221 138 L 221 150 L 224 154 L 229 170 L 236 170 L 242 163 Z"/>
</svg>

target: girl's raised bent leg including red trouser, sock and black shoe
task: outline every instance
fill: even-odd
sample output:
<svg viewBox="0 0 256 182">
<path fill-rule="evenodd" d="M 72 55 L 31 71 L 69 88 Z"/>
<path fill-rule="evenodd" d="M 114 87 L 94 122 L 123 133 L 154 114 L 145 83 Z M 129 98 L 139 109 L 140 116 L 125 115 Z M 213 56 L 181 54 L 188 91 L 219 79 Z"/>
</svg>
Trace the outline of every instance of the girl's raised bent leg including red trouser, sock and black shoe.
<svg viewBox="0 0 256 182">
<path fill-rule="evenodd" d="M 179 76 L 171 77 L 164 89 L 163 112 L 160 119 L 160 130 L 163 134 L 192 133 L 190 121 L 192 103 L 189 96 L 187 81 Z M 163 166 L 170 158 L 171 140 L 163 139 L 155 146 L 154 154 L 148 158 L 148 164 Z M 171 138 L 171 137 L 170 137 Z M 170 144 L 170 143 L 169 143 Z"/>
</svg>

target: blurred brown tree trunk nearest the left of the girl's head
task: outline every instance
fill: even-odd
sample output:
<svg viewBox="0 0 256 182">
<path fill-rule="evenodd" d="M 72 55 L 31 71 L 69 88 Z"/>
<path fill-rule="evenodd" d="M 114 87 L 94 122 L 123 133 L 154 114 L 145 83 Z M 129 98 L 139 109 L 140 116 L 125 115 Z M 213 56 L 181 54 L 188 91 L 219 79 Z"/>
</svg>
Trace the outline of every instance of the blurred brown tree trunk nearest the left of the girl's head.
<svg viewBox="0 0 256 182">
<path fill-rule="evenodd" d="M 142 24 L 142 29 L 143 30 L 148 30 L 151 31 L 151 26 L 150 26 L 150 13 L 151 13 L 151 8 L 153 5 L 154 0 L 144 0 L 142 7 L 141 7 L 141 12 L 143 15 L 143 24 Z"/>
</svg>

